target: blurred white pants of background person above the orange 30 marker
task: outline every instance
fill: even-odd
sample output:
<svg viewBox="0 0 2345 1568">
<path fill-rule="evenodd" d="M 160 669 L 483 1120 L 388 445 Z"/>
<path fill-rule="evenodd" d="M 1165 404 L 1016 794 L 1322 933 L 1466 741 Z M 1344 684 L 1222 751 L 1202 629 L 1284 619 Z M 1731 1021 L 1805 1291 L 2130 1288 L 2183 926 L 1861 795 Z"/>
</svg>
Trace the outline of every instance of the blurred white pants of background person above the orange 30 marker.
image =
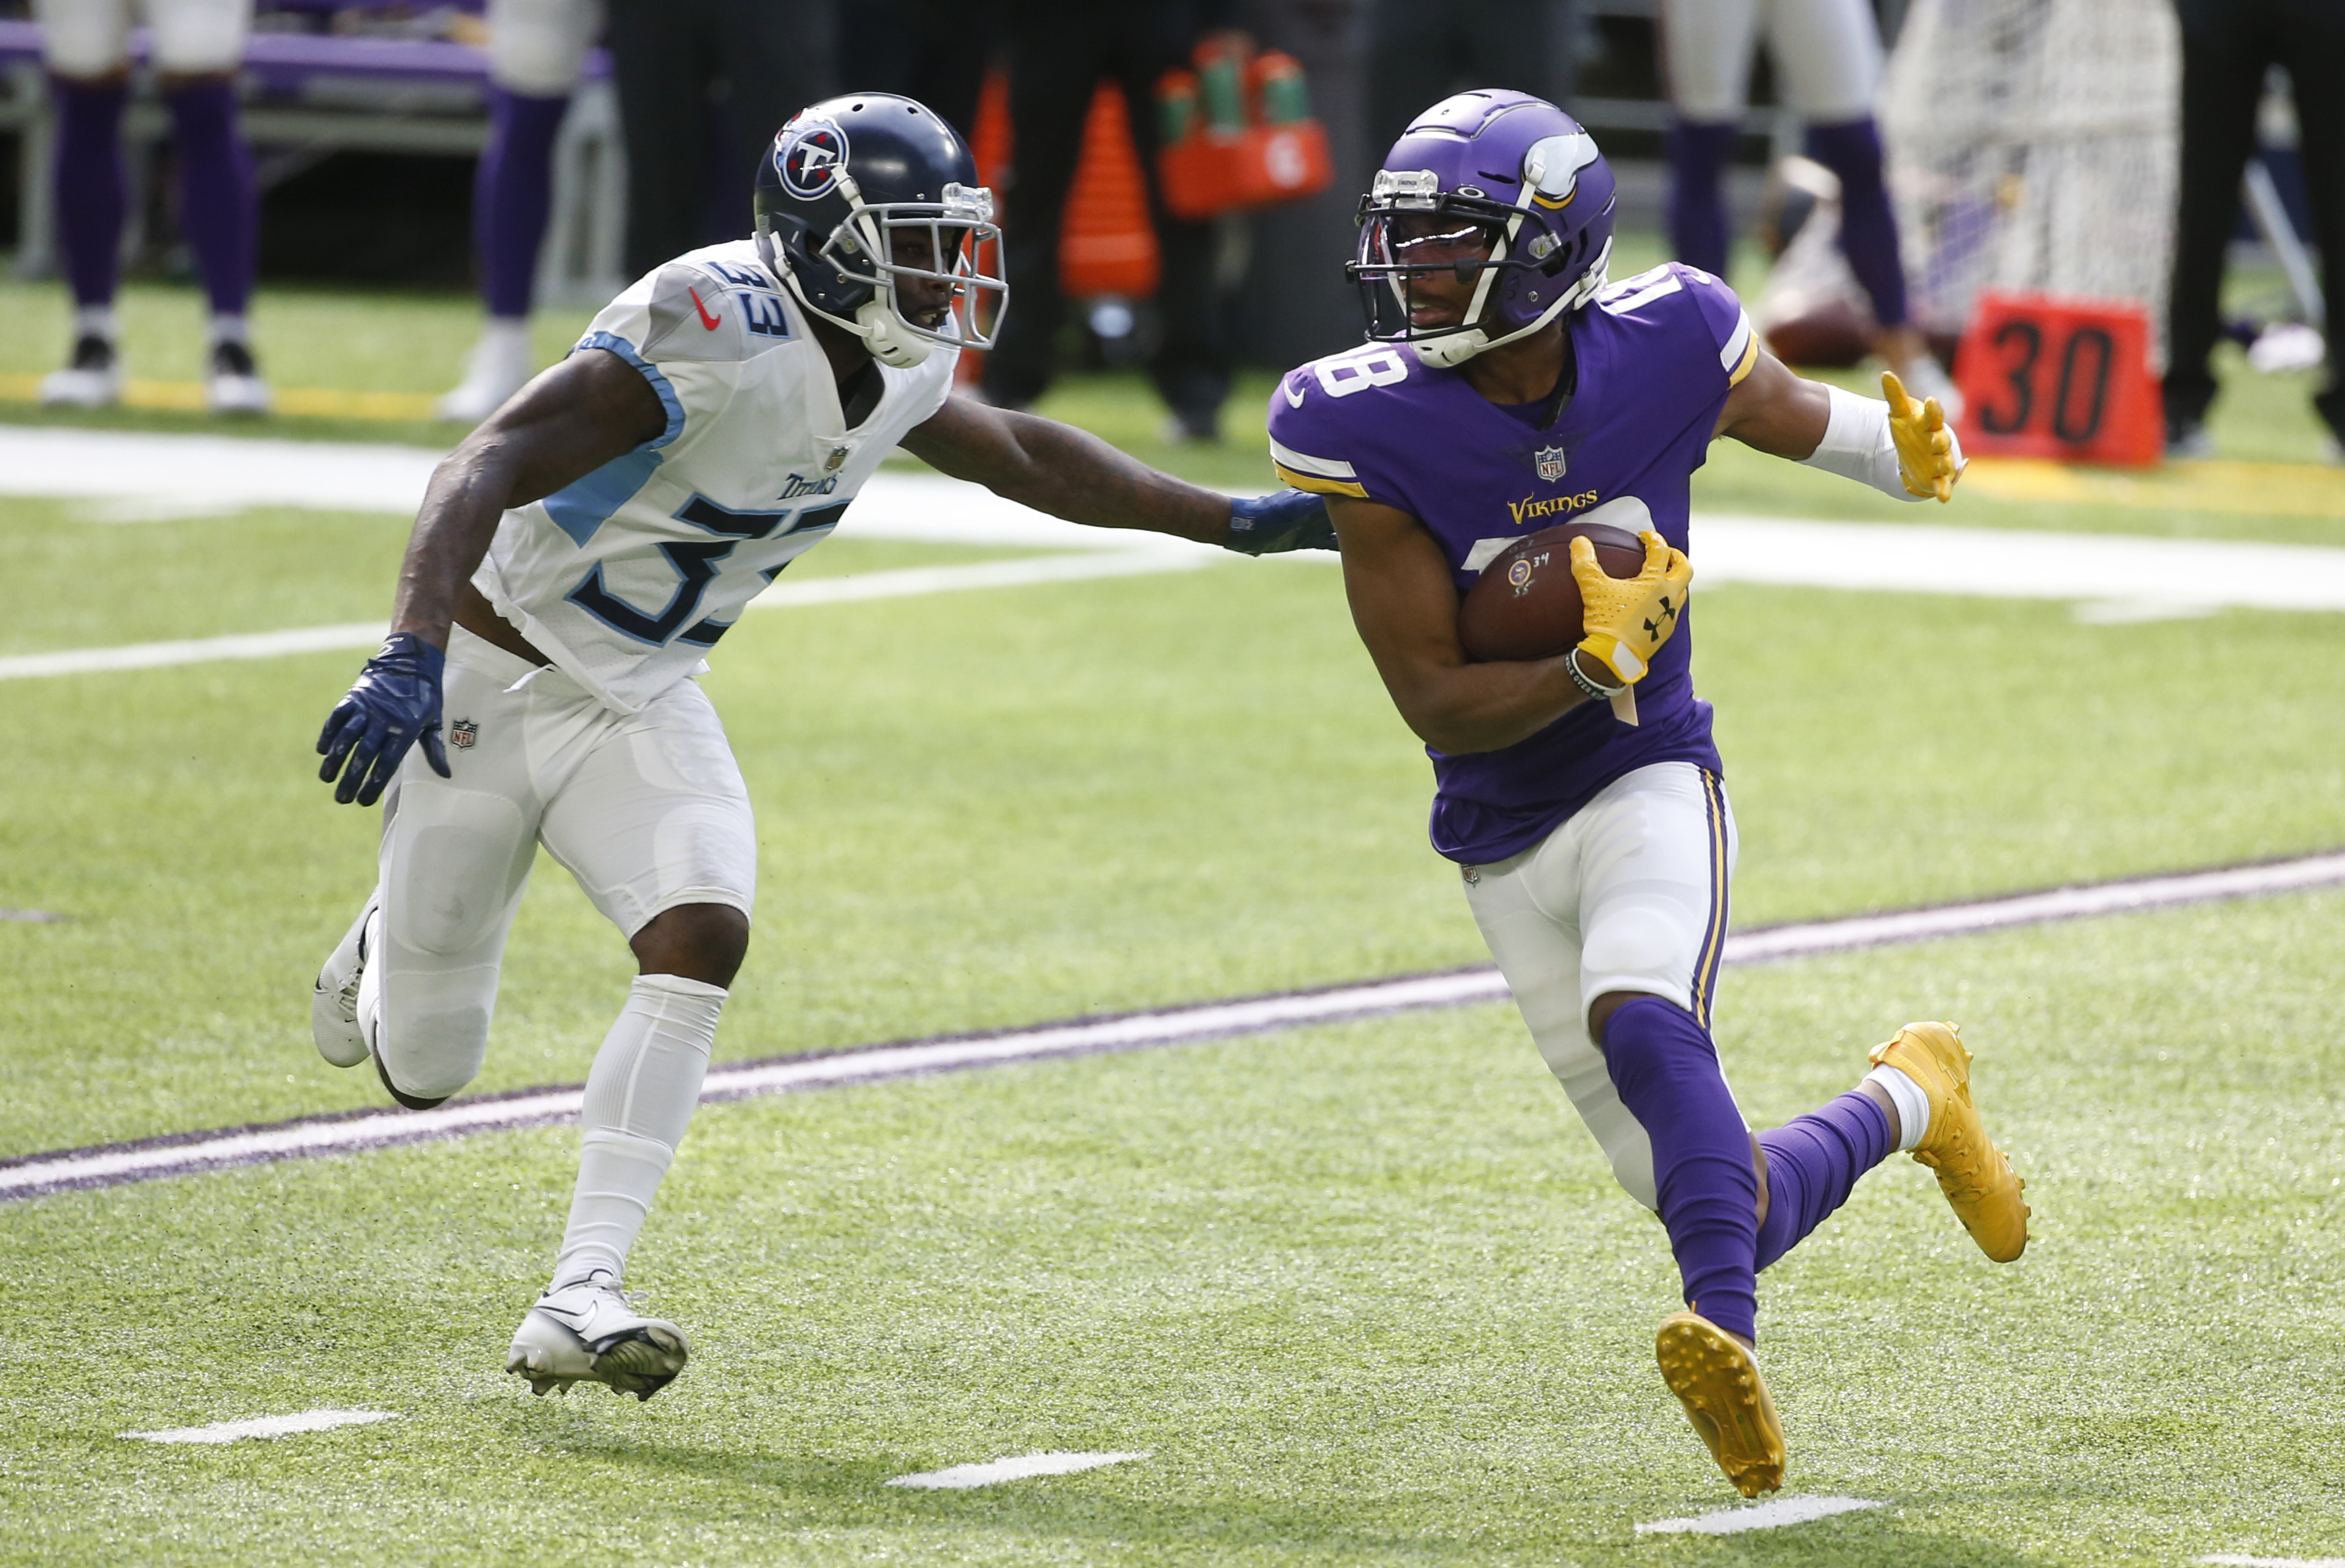
<svg viewBox="0 0 2345 1568">
<path fill-rule="evenodd" d="M 1670 105 L 1686 120 L 1738 120 L 1749 103 L 1752 45 L 1766 28 L 1778 94 L 1808 124 L 1874 113 L 1881 23 L 1864 0 L 1660 0 Z"/>
</svg>

